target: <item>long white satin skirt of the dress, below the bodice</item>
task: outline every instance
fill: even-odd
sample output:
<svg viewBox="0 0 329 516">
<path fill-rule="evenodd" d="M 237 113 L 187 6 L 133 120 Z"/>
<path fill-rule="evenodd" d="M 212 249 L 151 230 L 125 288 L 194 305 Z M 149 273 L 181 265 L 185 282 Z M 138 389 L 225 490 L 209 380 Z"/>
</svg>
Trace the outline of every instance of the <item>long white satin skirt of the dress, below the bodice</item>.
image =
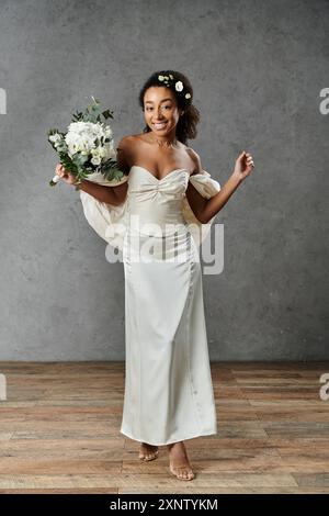
<svg viewBox="0 0 329 516">
<path fill-rule="evenodd" d="M 125 395 L 121 433 L 168 445 L 217 433 L 196 245 L 185 225 L 124 237 Z"/>
</svg>

